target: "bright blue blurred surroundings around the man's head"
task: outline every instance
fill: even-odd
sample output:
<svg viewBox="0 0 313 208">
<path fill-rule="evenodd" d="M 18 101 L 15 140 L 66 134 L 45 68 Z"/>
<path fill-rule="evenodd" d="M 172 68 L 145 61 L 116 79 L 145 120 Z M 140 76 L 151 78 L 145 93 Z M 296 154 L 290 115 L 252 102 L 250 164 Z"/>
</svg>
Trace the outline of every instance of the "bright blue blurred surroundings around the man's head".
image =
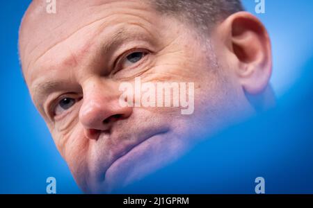
<svg viewBox="0 0 313 208">
<path fill-rule="evenodd" d="M 46 193 L 49 176 L 56 177 L 57 193 L 81 193 L 22 78 L 17 37 L 29 3 L 4 1 L 0 6 L 0 193 Z M 255 14 L 254 0 L 243 3 Z M 126 191 L 254 193 L 255 177 L 262 176 L 266 193 L 313 193 L 312 8 L 313 1 L 266 0 L 266 13 L 255 14 L 268 28 L 273 44 L 275 110 L 225 130 L 166 171 Z M 197 155 L 205 157 L 193 159 Z M 193 166 L 192 173 L 182 171 L 195 161 L 199 166 Z M 175 188 L 158 187 L 156 178 Z M 184 189 L 178 179 L 189 188 Z M 202 184 L 197 187 L 198 182 Z"/>
</svg>

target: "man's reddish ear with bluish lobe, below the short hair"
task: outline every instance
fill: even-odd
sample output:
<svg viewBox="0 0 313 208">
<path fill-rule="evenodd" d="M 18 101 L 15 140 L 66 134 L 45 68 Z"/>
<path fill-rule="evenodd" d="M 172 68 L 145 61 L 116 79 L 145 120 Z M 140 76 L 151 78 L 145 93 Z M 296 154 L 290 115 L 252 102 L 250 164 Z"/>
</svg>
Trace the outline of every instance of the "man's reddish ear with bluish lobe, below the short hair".
<svg viewBox="0 0 313 208">
<path fill-rule="evenodd" d="M 256 95 L 268 86 L 272 71 L 271 42 L 266 28 L 248 12 L 237 12 L 220 24 L 239 83 L 248 94 Z"/>
</svg>

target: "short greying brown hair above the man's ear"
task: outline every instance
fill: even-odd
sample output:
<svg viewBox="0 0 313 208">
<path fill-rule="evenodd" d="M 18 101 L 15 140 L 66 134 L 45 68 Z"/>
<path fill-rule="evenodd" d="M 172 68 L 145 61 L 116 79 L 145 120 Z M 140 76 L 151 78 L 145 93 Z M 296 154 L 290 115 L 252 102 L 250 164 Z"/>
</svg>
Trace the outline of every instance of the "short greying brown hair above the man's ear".
<svg viewBox="0 0 313 208">
<path fill-rule="evenodd" d="M 163 15 L 178 17 L 207 31 L 235 12 L 243 11 L 241 0 L 152 0 L 152 7 Z"/>
</svg>

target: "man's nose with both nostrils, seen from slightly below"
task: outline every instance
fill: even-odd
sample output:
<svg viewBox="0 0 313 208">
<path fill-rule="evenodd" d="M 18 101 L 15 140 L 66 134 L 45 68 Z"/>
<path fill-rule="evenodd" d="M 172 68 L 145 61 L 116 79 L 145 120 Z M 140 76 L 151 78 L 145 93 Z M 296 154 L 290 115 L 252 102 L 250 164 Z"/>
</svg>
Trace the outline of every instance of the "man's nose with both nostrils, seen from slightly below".
<svg viewBox="0 0 313 208">
<path fill-rule="evenodd" d="M 115 83 L 90 80 L 83 87 L 79 121 L 88 139 L 97 139 L 101 132 L 109 132 L 115 121 L 131 115 L 132 107 L 120 105 L 120 94 Z"/>
</svg>

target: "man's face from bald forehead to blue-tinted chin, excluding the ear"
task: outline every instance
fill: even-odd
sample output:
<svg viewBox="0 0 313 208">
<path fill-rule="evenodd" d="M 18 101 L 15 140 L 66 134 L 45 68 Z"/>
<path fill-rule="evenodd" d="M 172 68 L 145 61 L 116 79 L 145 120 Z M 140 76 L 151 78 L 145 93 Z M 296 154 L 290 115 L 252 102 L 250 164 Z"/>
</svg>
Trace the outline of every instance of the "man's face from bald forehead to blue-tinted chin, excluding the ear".
<svg viewBox="0 0 313 208">
<path fill-rule="evenodd" d="M 48 14 L 45 3 L 33 2 L 19 46 L 33 102 L 83 191 L 138 180 L 250 111 L 217 39 L 203 42 L 142 1 L 57 3 Z M 120 105 L 120 84 L 138 77 L 194 83 L 193 114 Z"/>
</svg>

